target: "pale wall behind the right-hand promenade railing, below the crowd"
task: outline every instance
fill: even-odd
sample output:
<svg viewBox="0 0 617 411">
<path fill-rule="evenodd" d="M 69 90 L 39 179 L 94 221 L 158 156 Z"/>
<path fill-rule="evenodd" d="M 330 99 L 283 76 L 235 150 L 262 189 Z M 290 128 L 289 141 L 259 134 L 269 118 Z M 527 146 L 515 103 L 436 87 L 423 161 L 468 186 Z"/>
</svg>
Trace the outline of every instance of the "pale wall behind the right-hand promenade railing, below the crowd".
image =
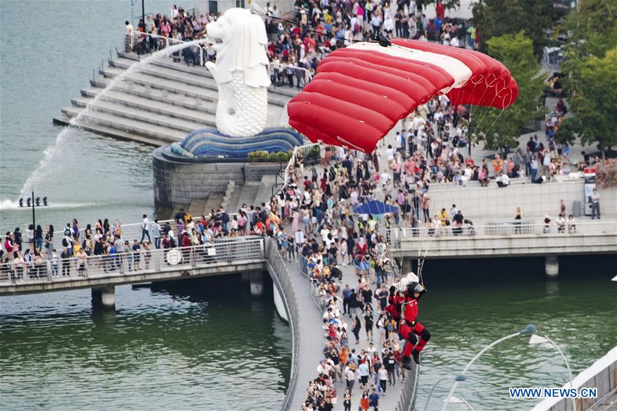
<svg viewBox="0 0 617 411">
<path fill-rule="evenodd" d="M 602 199 L 601 214 L 614 219 L 617 214 L 617 188 L 598 189 Z M 548 214 L 551 218 L 559 212 L 559 200 L 566 201 L 567 212 L 572 212 L 574 201 L 581 202 L 581 215 L 585 214 L 584 182 L 574 179 L 545 184 L 511 184 L 500 188 L 496 184 L 488 187 L 459 187 L 452 184 L 433 184 L 428 190 L 431 199 L 431 215 L 441 208 L 450 210 L 452 204 L 463 212 L 466 219 L 513 218 L 517 207 L 523 218 Z"/>
</svg>

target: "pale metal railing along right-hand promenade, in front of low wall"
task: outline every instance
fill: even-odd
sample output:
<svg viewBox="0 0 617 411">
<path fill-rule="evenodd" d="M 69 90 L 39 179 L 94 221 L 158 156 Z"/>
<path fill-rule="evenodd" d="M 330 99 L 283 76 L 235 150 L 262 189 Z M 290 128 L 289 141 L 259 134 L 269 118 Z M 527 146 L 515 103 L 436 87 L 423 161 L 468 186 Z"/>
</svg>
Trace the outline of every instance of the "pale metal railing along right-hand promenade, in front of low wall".
<svg viewBox="0 0 617 411">
<path fill-rule="evenodd" d="M 504 222 L 501 224 L 488 225 L 466 225 L 455 227 L 453 225 L 437 224 L 437 227 L 400 227 L 390 229 L 389 235 L 396 243 L 396 247 L 400 247 L 402 240 L 422 241 L 426 238 L 456 238 L 456 236 L 488 236 L 488 237 L 505 237 L 505 236 L 538 236 L 548 234 L 560 235 L 589 235 L 589 234 L 617 234 L 617 222 L 603 221 L 592 222 L 576 221 L 573 225 L 568 225 L 568 220 L 564 225 L 555 223 L 555 219 L 551 219 L 551 223 L 533 223 L 527 221 L 525 223 Z"/>
</svg>

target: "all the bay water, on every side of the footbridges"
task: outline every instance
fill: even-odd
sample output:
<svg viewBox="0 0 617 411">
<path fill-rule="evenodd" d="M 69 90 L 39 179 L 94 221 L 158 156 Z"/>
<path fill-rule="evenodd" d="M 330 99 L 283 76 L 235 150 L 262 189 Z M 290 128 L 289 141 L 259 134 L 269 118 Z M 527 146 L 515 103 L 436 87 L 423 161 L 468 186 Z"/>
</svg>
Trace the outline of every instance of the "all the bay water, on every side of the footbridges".
<svg viewBox="0 0 617 411">
<path fill-rule="evenodd" d="M 171 3 L 146 5 L 165 11 Z M 16 201 L 31 189 L 49 198 L 40 223 L 132 223 L 152 213 L 152 148 L 82 130 L 57 144 L 62 127 L 51 124 L 120 47 L 130 1 L 2 1 L 0 9 L 0 228 L 29 223 Z M 433 338 L 415 409 L 437 379 L 527 323 L 559 344 L 575 374 L 617 343 L 617 259 L 560 261 L 555 281 L 545 279 L 541 258 L 426 262 L 420 321 Z M 115 314 L 93 312 L 89 290 L 0 299 L 0 406 L 278 409 L 291 339 L 271 296 L 251 300 L 237 277 L 165 287 L 117 287 Z M 509 386 L 564 384 L 557 352 L 528 339 L 486 353 L 455 395 L 476 410 L 526 410 L 535 401 L 510 400 Z M 448 388 L 435 390 L 430 410 L 441 409 Z"/>
</svg>

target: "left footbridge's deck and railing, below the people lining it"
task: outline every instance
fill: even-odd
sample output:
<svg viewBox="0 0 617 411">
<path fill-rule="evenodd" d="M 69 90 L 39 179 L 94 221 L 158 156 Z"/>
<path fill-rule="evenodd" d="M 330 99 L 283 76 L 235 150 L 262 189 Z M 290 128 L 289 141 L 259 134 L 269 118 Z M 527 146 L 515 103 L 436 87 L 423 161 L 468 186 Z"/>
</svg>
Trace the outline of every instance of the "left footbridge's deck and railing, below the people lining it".
<svg viewBox="0 0 617 411">
<path fill-rule="evenodd" d="M 112 256 L 66 258 L 54 264 L 0 264 L 0 296 L 109 288 L 229 273 L 265 271 L 263 239 L 242 237 L 206 245 Z"/>
</svg>

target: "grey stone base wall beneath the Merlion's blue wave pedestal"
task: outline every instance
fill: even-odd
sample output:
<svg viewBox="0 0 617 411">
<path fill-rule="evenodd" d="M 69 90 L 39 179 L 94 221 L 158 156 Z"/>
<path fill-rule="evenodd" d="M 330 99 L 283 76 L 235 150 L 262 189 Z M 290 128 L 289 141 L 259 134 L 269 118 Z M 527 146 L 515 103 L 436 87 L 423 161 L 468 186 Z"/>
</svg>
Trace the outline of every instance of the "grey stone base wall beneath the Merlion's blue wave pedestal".
<svg viewBox="0 0 617 411">
<path fill-rule="evenodd" d="M 280 163 L 199 162 L 174 160 L 159 147 L 152 155 L 154 206 L 175 210 L 189 208 L 195 199 L 225 192 L 230 181 L 236 186 L 260 182 L 264 175 L 280 171 Z"/>
</svg>

